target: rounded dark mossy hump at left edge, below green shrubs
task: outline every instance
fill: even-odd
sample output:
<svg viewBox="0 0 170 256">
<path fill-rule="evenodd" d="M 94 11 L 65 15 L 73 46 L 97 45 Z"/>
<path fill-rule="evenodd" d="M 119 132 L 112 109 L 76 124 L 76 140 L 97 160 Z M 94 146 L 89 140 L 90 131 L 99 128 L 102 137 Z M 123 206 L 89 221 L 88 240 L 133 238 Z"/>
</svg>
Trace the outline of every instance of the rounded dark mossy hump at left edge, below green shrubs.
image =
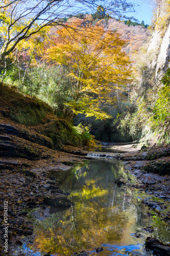
<svg viewBox="0 0 170 256">
<path fill-rule="evenodd" d="M 37 125 L 49 116 L 55 117 L 52 108 L 39 99 L 17 93 L 2 83 L 0 90 L 0 112 L 4 117 L 25 125 Z"/>
</svg>

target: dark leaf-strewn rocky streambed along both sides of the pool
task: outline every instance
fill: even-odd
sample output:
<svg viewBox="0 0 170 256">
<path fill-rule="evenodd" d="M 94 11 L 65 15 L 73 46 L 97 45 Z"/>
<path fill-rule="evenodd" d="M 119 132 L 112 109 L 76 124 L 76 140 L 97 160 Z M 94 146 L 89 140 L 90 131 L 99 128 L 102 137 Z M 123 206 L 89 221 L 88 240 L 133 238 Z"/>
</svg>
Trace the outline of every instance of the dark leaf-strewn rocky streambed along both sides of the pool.
<svg viewBox="0 0 170 256">
<path fill-rule="evenodd" d="M 19 248 L 24 243 L 34 243 L 35 221 L 45 220 L 51 216 L 48 210 L 50 206 L 54 207 L 55 211 L 62 211 L 74 203 L 67 198 L 69 193 L 60 188 L 54 172 L 68 170 L 94 155 L 122 159 L 126 172 L 136 177 L 135 181 L 128 181 L 128 186 L 138 189 L 141 203 L 148 207 L 148 215 L 155 215 L 160 221 L 169 223 L 168 147 L 163 150 L 155 147 L 152 154 L 152 151 L 139 152 L 139 148 L 133 144 L 114 145 L 113 153 L 91 152 L 89 153 L 91 155 L 86 157 L 88 152 L 80 147 L 63 146 L 62 151 L 58 151 L 52 148 L 50 139 L 35 131 L 21 129 L 12 122 L 3 123 L 0 132 L 1 255 L 6 255 L 4 245 L 7 244 L 9 255 L 13 255 L 14 251 L 17 251 L 15 255 L 26 255 L 19 251 Z M 127 180 L 122 178 L 115 181 L 117 183 L 120 181 L 120 186 L 127 184 Z M 6 243 L 4 227 L 8 229 L 8 243 Z M 136 234 L 137 236 L 140 237 L 140 234 Z M 152 241 L 152 243 L 158 242 Z M 164 248 L 165 245 L 162 246 Z M 150 249 L 153 250 L 153 247 L 151 246 Z M 165 251 L 168 253 L 167 248 Z"/>
</svg>

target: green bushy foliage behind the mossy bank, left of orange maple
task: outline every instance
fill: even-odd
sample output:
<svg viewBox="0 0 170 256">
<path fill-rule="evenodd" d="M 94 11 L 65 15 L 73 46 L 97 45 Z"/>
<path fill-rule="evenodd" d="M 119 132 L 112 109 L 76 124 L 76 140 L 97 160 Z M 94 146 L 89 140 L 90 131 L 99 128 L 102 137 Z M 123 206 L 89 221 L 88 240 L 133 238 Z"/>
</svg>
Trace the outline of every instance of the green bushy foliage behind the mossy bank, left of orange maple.
<svg viewBox="0 0 170 256">
<path fill-rule="evenodd" d="M 20 74 L 19 74 L 20 72 Z M 70 100 L 68 72 L 64 67 L 48 67 L 45 63 L 30 67 L 25 77 L 23 87 L 20 87 L 24 72 L 16 65 L 7 70 L 4 81 L 17 87 L 17 89 L 38 97 L 52 106 L 57 116 L 70 116 L 72 111 L 64 103 Z"/>
</svg>

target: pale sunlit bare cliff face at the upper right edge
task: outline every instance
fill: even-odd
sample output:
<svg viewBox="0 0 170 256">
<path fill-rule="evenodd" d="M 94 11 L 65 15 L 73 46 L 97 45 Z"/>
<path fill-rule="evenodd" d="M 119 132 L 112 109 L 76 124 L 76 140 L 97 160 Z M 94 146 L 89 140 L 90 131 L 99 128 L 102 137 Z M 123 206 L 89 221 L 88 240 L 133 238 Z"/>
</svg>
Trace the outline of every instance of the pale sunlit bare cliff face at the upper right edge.
<svg viewBox="0 0 170 256">
<path fill-rule="evenodd" d="M 159 83 L 162 75 L 170 67 L 170 23 L 167 0 L 159 0 L 156 25 L 148 48 L 150 67 L 155 70 L 155 80 Z"/>
</svg>

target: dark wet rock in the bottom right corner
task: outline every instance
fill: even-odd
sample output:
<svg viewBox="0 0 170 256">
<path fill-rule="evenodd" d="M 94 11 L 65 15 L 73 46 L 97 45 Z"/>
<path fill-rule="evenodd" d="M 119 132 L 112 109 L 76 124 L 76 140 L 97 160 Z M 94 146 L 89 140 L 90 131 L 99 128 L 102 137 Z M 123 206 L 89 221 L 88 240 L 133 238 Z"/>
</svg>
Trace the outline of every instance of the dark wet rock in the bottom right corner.
<svg viewBox="0 0 170 256">
<path fill-rule="evenodd" d="M 155 238 L 148 237 L 145 240 L 145 248 L 153 250 L 153 252 L 156 255 L 161 255 L 161 256 L 170 256 L 170 246 L 161 243 L 159 240 Z"/>
</svg>

